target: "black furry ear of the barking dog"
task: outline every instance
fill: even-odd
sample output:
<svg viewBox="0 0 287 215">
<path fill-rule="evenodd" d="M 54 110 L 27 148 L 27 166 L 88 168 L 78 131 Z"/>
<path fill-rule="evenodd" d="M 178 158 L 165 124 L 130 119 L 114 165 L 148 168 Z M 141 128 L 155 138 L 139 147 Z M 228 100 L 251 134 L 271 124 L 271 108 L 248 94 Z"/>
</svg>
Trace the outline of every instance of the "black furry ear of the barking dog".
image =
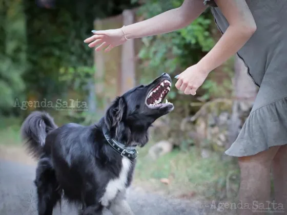
<svg viewBox="0 0 287 215">
<path fill-rule="evenodd" d="M 126 113 L 126 110 L 127 104 L 125 99 L 122 97 L 117 97 L 107 110 L 105 116 L 105 123 L 109 130 L 121 121 L 122 117 Z"/>
</svg>

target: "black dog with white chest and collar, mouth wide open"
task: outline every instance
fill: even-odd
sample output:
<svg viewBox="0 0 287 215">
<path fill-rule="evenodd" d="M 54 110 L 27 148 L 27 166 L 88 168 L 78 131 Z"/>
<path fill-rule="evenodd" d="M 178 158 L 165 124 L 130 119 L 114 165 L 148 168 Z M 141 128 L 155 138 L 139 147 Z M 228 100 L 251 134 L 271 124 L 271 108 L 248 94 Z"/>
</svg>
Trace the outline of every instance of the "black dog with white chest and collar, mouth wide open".
<svg viewBox="0 0 287 215">
<path fill-rule="evenodd" d="M 36 179 L 38 214 L 51 215 L 63 196 L 79 204 L 79 214 L 133 214 L 126 201 L 136 163 L 136 146 L 148 142 L 148 128 L 174 109 L 161 103 L 171 78 L 163 73 L 117 97 L 105 116 L 92 126 L 69 123 L 57 127 L 44 112 L 33 112 L 21 133 L 38 159 Z"/>
</svg>

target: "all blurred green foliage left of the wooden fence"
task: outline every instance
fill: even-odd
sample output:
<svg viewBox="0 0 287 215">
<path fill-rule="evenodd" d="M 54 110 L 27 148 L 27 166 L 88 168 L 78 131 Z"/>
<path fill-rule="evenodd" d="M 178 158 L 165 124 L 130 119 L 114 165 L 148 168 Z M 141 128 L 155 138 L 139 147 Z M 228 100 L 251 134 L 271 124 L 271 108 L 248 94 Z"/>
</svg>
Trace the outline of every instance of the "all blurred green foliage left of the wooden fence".
<svg viewBox="0 0 287 215">
<path fill-rule="evenodd" d="M 11 110 L 15 97 L 19 102 L 52 100 L 70 91 L 87 96 L 94 59 L 93 49 L 83 40 L 91 35 L 96 18 L 133 7 L 130 0 L 64 0 L 55 1 L 52 8 L 39 7 L 38 2 L 0 0 L 2 112 Z"/>
</svg>

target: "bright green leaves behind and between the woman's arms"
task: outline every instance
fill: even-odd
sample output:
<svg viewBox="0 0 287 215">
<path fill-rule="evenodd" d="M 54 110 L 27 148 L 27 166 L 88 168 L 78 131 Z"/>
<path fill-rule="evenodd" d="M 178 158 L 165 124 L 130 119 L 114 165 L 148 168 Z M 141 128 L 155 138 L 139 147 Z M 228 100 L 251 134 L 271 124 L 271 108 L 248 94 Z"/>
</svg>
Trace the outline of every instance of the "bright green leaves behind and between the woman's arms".
<svg viewBox="0 0 287 215">
<path fill-rule="evenodd" d="M 166 10 L 179 7 L 182 0 L 153 1 L 148 0 L 139 10 L 139 14 L 150 18 Z M 186 28 L 153 37 L 143 38 L 145 46 L 139 57 L 144 60 L 145 77 L 154 76 L 165 71 L 174 74 L 177 69 L 186 69 L 196 63 L 204 52 L 209 51 L 214 40 L 210 34 L 212 16 L 209 11 Z M 150 79 L 150 78 L 149 78 Z"/>
</svg>

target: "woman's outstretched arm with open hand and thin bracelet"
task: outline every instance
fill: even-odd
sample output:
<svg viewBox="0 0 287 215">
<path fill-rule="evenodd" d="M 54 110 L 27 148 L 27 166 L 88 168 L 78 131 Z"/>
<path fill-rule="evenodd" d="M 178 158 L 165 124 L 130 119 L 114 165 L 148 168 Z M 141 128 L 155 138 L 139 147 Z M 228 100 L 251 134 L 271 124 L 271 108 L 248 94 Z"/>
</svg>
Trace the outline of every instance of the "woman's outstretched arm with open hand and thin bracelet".
<svg viewBox="0 0 287 215">
<path fill-rule="evenodd" d="M 94 35 L 85 39 L 89 47 L 98 46 L 95 50 L 100 51 L 108 47 L 108 52 L 112 48 L 124 44 L 127 39 L 141 38 L 164 34 L 181 29 L 189 25 L 204 10 L 202 0 L 185 0 L 183 4 L 175 9 L 163 12 L 147 20 L 125 26 L 119 29 L 93 31 Z"/>
</svg>

